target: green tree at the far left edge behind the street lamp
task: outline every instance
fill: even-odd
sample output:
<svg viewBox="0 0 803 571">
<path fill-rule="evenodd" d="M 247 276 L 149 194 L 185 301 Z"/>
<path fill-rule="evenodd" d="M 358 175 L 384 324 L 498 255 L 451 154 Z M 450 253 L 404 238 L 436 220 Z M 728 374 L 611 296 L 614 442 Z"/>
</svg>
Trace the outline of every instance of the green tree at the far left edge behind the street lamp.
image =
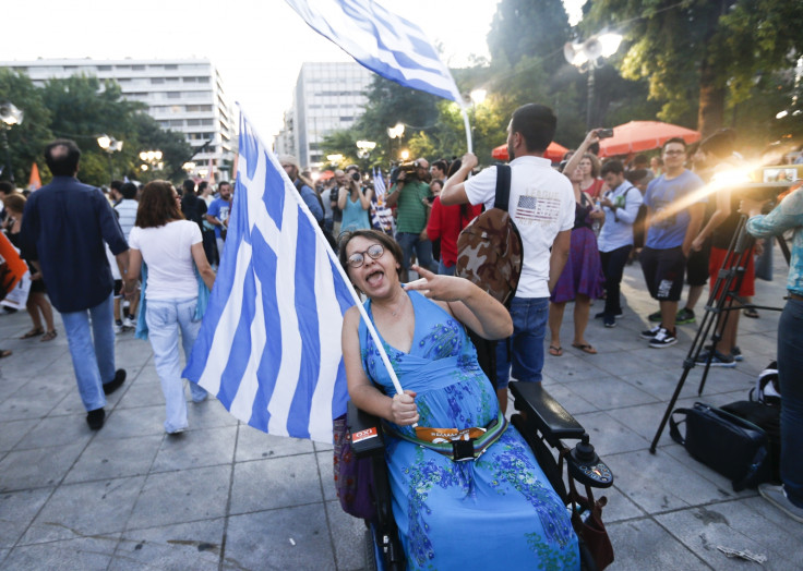
<svg viewBox="0 0 803 571">
<path fill-rule="evenodd" d="M 8 68 L 0 68 L 0 101 L 7 100 L 24 113 L 21 124 L 7 130 L 9 158 L 14 181 L 19 186 L 24 186 L 28 181 L 34 162 L 39 167 L 43 177 L 47 173 L 43 151 L 52 138 L 52 133 L 48 129 L 50 112 L 43 102 L 40 90 L 34 86 L 27 75 L 13 72 Z M 0 148 L 2 153 L 0 163 L 3 166 L 7 160 L 5 151 L 7 149 Z M 10 174 L 4 171 L 2 178 L 8 180 L 11 178 Z"/>
</svg>

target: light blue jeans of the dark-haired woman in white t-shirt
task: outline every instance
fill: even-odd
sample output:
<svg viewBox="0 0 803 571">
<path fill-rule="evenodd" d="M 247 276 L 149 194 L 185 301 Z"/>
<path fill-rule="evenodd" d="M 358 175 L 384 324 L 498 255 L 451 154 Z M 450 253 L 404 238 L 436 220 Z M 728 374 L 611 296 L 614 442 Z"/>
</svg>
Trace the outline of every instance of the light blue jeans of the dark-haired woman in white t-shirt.
<svg viewBox="0 0 803 571">
<path fill-rule="evenodd" d="M 167 420 L 165 430 L 175 433 L 189 426 L 187 423 L 187 399 L 184 382 L 181 379 L 181 360 L 179 357 L 179 330 L 181 344 L 184 347 L 184 360 L 190 357 L 192 345 L 201 329 L 201 320 L 195 320 L 197 297 L 191 300 L 147 300 L 145 321 L 147 337 L 154 349 L 156 374 L 161 381 L 165 393 Z M 190 382 L 190 392 L 194 402 L 206 398 L 206 391 Z"/>
</svg>

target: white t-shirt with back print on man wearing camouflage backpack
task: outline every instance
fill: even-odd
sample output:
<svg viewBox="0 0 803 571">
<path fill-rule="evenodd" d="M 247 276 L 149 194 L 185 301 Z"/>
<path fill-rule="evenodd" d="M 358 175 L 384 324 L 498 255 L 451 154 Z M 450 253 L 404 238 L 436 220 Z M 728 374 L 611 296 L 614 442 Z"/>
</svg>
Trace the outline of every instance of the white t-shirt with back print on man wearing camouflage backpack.
<svg viewBox="0 0 803 571">
<path fill-rule="evenodd" d="M 471 204 L 493 208 L 496 167 L 465 183 Z M 574 227 L 574 191 L 568 179 L 552 169 L 549 159 L 519 157 L 511 162 L 508 211 L 522 234 L 524 264 L 516 297 L 549 297 L 550 248 L 558 232 Z"/>
</svg>

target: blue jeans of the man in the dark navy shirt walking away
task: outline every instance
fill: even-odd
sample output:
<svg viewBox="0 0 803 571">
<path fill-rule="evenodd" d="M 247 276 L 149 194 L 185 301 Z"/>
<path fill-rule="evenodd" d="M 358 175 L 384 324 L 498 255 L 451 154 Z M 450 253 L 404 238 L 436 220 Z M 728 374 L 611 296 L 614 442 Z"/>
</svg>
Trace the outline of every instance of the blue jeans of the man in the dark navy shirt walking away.
<svg viewBox="0 0 803 571">
<path fill-rule="evenodd" d="M 115 380 L 112 300 L 112 294 L 109 294 L 95 307 L 61 314 L 79 393 L 87 411 L 106 406 L 103 385 Z"/>
</svg>

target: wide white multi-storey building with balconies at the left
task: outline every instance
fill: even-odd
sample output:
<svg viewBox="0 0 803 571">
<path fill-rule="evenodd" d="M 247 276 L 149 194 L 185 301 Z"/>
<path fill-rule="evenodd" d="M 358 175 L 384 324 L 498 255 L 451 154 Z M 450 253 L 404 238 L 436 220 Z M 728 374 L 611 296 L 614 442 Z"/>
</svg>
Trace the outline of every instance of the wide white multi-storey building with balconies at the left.
<svg viewBox="0 0 803 571">
<path fill-rule="evenodd" d="M 224 160 L 231 161 L 237 150 L 237 119 L 220 75 L 207 59 L 38 59 L 0 61 L 0 66 L 26 73 L 37 86 L 76 74 L 115 80 L 123 97 L 147 105 L 163 129 L 183 133 L 195 149 L 209 142 L 193 158 L 195 174 L 204 175 L 212 159 L 216 180 L 231 178 Z"/>
</svg>

